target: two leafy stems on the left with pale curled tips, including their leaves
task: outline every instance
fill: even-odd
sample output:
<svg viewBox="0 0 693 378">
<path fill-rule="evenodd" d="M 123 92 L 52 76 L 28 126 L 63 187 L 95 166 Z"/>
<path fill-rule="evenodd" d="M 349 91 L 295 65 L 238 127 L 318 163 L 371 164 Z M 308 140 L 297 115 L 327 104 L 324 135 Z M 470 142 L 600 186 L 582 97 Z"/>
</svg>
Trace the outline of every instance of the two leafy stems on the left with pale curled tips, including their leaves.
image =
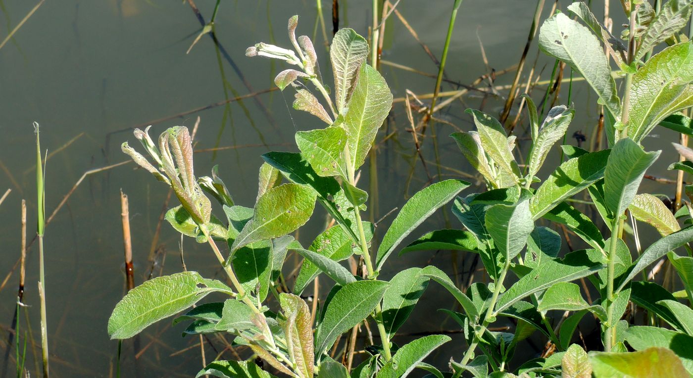
<svg viewBox="0 0 693 378">
<path fill-rule="evenodd" d="M 378 249 L 371 250 L 374 225 L 362 220 L 368 194 L 358 188 L 356 172 L 392 107 L 392 93 L 382 75 L 366 64 L 365 39 L 347 28 L 335 35 L 330 49 L 331 94 L 313 43 L 306 36 L 295 37 L 297 20 L 292 17 L 288 25 L 294 50 L 261 43 L 248 48 L 246 55 L 295 66 L 277 75 L 277 86 L 294 88 L 295 109 L 308 111 L 325 125 L 296 133 L 300 153 L 263 155 L 252 208 L 234 202 L 216 168 L 211 177 L 195 177 L 186 127 L 166 130 L 158 144 L 148 129 L 136 130 L 148 158 L 123 143 L 123 152 L 173 188 L 181 205 L 168 210 L 166 219 L 180 233 L 210 245 L 231 285 L 195 271 L 154 278 L 132 289 L 116 305 L 108 332 L 112 339 L 127 339 L 192 307 L 207 294 L 220 292 L 229 298 L 198 305 L 173 322 L 189 323 L 185 334 L 233 334 L 234 344 L 249 347 L 265 361 L 266 370 L 252 360 L 214 361 L 200 375 L 270 377 L 270 372 L 279 372 L 290 377 L 349 377 L 328 352 L 341 334 L 362 322 L 376 325 L 380 344 L 368 349 L 366 361 L 354 371 L 364 377 L 408 375 L 423 366 L 421 361 L 432 350 L 450 340 L 434 334 L 401 347 L 392 342 L 429 280 L 459 298 L 464 294 L 436 267 L 406 269 L 390 282 L 379 280 L 378 275 L 405 237 L 469 184 L 450 179 L 417 192 L 387 228 Z M 222 217 L 213 215 L 207 195 L 220 203 Z M 335 226 L 304 248 L 289 234 L 306 224 L 316 202 L 335 220 Z M 277 283 L 288 253 L 304 258 L 291 293 L 279 292 L 282 287 Z M 340 264 L 352 255 L 362 258 L 362 275 L 354 276 Z M 299 295 L 319 274 L 333 283 L 313 323 Z"/>
</svg>

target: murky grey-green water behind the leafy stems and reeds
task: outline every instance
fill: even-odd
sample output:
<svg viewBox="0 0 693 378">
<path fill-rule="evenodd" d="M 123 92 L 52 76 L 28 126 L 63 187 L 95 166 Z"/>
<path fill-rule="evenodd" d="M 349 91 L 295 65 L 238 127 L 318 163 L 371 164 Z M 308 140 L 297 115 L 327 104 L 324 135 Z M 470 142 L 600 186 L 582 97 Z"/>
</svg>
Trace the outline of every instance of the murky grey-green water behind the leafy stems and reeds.
<svg viewBox="0 0 693 378">
<path fill-rule="evenodd" d="M 0 17 L 0 39 L 26 15 L 33 3 L 0 1 L 3 15 Z M 211 0 L 198 0 L 204 17 L 210 17 L 213 3 Z M 331 2 L 323 3 L 327 33 L 331 35 Z M 439 56 L 451 6 L 452 1 L 405 0 L 401 1 L 398 10 L 416 30 L 421 41 Z M 616 6 L 612 9 L 618 10 Z M 342 0 L 340 26 L 350 26 L 365 35 L 370 12 L 370 1 Z M 532 12 L 534 1 L 464 1 L 448 56 L 448 78 L 470 83 L 487 72 L 479 39 L 493 69 L 500 71 L 515 64 L 527 39 Z M 543 18 L 547 12 L 549 5 Z M 220 44 L 238 66 L 238 72 L 252 87 L 248 88 L 208 37 L 203 37 L 186 55 L 200 29 L 187 3 L 161 0 L 46 1 L 15 38 L 0 50 L 0 194 L 6 188 L 12 189 L 0 206 L 0 279 L 6 277 L 19 258 L 19 204 L 22 198 L 28 202 L 29 240 L 34 234 L 33 121 L 41 125 L 42 147 L 49 153 L 57 152 L 51 155 L 46 168 L 48 214 L 85 171 L 127 160 L 119 145 L 125 140 L 132 142 L 134 138 L 130 130 L 121 130 L 153 124 L 153 134 L 158 134 L 173 125 L 192 127 L 198 116 L 201 123 L 196 148 L 225 149 L 196 154 L 197 173 L 207 174 L 213 165 L 219 164 L 220 174 L 236 202 L 252 206 L 257 190 L 257 170 L 262 163 L 260 155 L 270 150 L 295 150 L 292 137 L 295 131 L 322 125 L 315 118 L 290 109 L 293 96 L 289 91 L 273 91 L 203 111 L 191 110 L 274 87 L 272 78 L 283 67 L 270 60 L 249 59 L 244 51 L 247 46 L 260 41 L 288 46 L 286 20 L 295 14 L 301 17 L 299 33 L 312 36 L 316 17 L 314 1 L 225 1 L 222 4 L 216 33 Z M 621 21 L 617 18 L 615 24 L 619 25 Z M 437 73 L 435 64 L 401 21 L 392 15 L 387 22 L 383 60 Z M 322 46 L 323 42 L 318 28 L 315 44 Z M 323 72 L 328 72 L 326 51 L 318 48 L 318 52 L 322 53 Z M 532 66 L 536 57 L 535 42 L 527 65 Z M 542 80 L 549 77 L 552 65 L 551 60 L 539 55 L 536 71 L 541 71 Z M 528 70 L 529 67 L 525 69 L 523 82 L 527 80 Z M 430 93 L 435 84 L 432 78 L 392 66 L 383 65 L 382 71 L 396 98 L 404 96 L 405 89 L 416 94 Z M 566 70 L 565 75 L 569 74 Z M 509 84 L 511 75 L 498 76 L 495 84 Z M 567 87 L 565 82 L 562 101 L 567 97 Z M 442 90 L 452 89 L 456 89 L 455 85 L 444 84 Z M 534 97 L 541 98 L 543 91 L 544 87 L 538 87 Z M 500 93 L 505 96 L 505 92 Z M 371 206 L 371 219 L 380 219 L 392 208 L 401 206 L 405 198 L 426 185 L 429 177 L 435 181 L 460 177 L 459 171 L 471 172 L 447 135 L 455 128 L 471 129 L 470 119 L 464 114 L 466 107 L 483 105 L 484 111 L 493 115 L 502 110 L 502 99 L 493 96 L 486 100 L 482 98 L 482 93 L 471 92 L 438 115 L 445 121 L 435 124 L 438 156 L 434 153 L 430 132 L 422 147 L 428 172 L 416 156 L 412 134 L 407 132 L 410 125 L 403 103 L 394 105 L 387 129 L 378 140 L 394 134 L 378 145 L 376 163 L 367 164 L 362 170 L 361 186 L 376 189 L 371 196 L 378 198 L 377 206 Z M 574 120 L 570 134 L 581 131 L 589 141 L 598 115 L 595 96 L 576 83 L 572 101 L 579 116 Z M 175 116 L 177 114 L 184 116 Z M 161 118 L 171 119 L 155 121 Z M 665 148 L 651 172 L 656 176 L 674 178 L 674 174 L 665 170 L 676 159 L 668 147 L 674 136 L 660 133 L 660 138 L 646 142 L 651 148 Z M 60 150 L 66 143 L 69 145 Z M 574 140 L 568 143 L 574 143 Z M 556 161 L 558 155 L 554 156 L 553 161 Z M 114 375 L 117 343 L 109 341 L 106 323 L 115 303 L 124 294 L 121 188 L 130 197 L 136 282 L 142 282 L 150 271 L 153 271 L 153 276 L 158 276 L 182 269 L 180 238 L 167 224 L 161 228 L 157 244 L 164 246 L 166 253 L 159 255 L 154 269 L 148 262 L 151 240 L 166 199 L 166 188 L 146 172 L 134 171 L 133 168 L 128 164 L 88 176 L 46 228 L 49 345 L 51 370 L 56 377 Z M 377 171 L 377 182 L 371 181 L 371 169 Z M 647 186 L 666 194 L 673 190 L 673 186 L 655 183 L 647 183 Z M 467 191 L 471 192 L 471 189 Z M 171 204 L 175 204 L 175 199 Z M 391 219 L 386 219 L 384 224 Z M 322 210 L 317 210 L 313 220 L 301 228 L 301 242 L 308 245 L 323 225 Z M 457 227 L 458 224 L 450 214 L 446 216 L 439 212 L 413 236 L 445 226 Z M 205 246 L 186 239 L 183 249 L 188 269 L 200 271 L 207 277 L 220 276 L 216 260 Z M 459 269 L 465 271 L 464 280 L 468 280 L 466 271 L 471 260 L 471 256 L 459 255 L 457 258 Z M 288 266 L 296 261 L 297 258 L 290 256 Z M 437 264 L 448 272 L 453 270 L 448 252 L 421 253 L 406 259 L 392 258 L 383 275 L 389 278 L 403 267 L 427 263 Z M 33 247 L 28 252 L 24 297 L 24 302 L 30 305 L 28 318 L 36 340 L 35 345 L 28 344 L 26 363 L 33 375 L 38 375 L 40 363 L 32 352 L 37 350 L 40 355 L 37 271 L 37 250 Z M 292 269 L 285 269 L 285 273 L 290 275 Z M 15 312 L 18 280 L 15 271 L 0 291 L 0 350 L 3 353 L 0 366 L 8 367 L 8 376 L 15 371 L 14 350 L 8 357 L 5 353 Z M 409 327 L 403 332 L 457 330 L 453 322 L 446 321 L 444 314 L 435 311 L 451 305 L 450 298 L 438 288 L 429 290 L 419 303 L 419 315 L 410 320 Z M 26 323 L 22 321 L 20 332 L 23 336 L 24 330 Z M 170 327 L 170 322 L 163 321 L 148 328 L 139 337 L 137 345 L 125 341 L 123 377 L 190 376 L 198 372 L 202 364 L 199 339 L 182 338 L 182 330 L 180 325 Z M 396 341 L 404 343 L 406 340 L 405 336 Z M 225 348 L 220 339 L 211 337 L 210 341 L 213 346 L 207 344 L 205 348 L 207 361 Z M 444 365 L 450 357 L 459 359 L 460 355 L 455 354 L 455 350 L 463 345 L 462 338 L 455 336 L 450 345 L 453 343 L 457 346 L 446 348 L 435 356 L 435 361 Z M 540 351 L 541 342 L 535 344 Z M 184 350 L 186 348 L 191 350 Z M 139 353 L 137 358 L 136 353 Z M 228 355 L 225 352 L 225 356 Z"/>
</svg>

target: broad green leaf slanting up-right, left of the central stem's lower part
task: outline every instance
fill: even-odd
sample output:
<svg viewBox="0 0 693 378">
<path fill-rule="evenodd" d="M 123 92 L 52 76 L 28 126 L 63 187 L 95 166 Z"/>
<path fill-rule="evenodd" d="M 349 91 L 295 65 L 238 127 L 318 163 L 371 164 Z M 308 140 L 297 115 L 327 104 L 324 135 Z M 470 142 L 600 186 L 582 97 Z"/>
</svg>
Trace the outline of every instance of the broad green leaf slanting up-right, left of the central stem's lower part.
<svg viewBox="0 0 693 378">
<path fill-rule="evenodd" d="M 388 282 L 363 280 L 340 288 L 328 305 L 315 334 L 315 353 L 319 356 L 337 336 L 363 321 L 383 298 Z"/>
</svg>

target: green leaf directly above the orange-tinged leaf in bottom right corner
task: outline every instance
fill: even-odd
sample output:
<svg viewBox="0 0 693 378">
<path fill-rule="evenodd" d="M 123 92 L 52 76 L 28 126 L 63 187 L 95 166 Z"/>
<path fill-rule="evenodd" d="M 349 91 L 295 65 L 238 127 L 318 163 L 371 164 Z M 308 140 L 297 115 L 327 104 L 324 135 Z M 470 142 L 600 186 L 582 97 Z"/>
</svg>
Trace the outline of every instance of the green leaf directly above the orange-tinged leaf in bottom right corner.
<svg viewBox="0 0 693 378">
<path fill-rule="evenodd" d="M 648 348 L 669 348 L 681 358 L 688 374 L 693 374 L 693 337 L 660 327 L 635 326 L 626 330 L 626 341 L 635 350 Z M 688 375 L 665 375 L 658 377 L 686 377 Z"/>
</svg>

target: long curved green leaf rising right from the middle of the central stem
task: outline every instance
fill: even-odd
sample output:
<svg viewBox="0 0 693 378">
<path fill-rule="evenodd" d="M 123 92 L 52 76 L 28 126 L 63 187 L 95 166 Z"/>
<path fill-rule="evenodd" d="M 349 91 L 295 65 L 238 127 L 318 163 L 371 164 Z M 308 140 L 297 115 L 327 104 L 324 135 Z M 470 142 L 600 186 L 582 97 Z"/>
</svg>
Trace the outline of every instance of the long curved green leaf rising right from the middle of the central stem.
<svg viewBox="0 0 693 378">
<path fill-rule="evenodd" d="M 392 224 L 387 229 L 383 242 L 378 247 L 376 257 L 376 270 L 383 267 L 383 263 L 390 253 L 409 235 L 414 229 L 426 220 L 435 210 L 438 210 L 457 193 L 464 190 L 470 184 L 466 181 L 450 179 L 434 183 L 419 190 L 407 201 L 402 210 L 397 214 Z"/>
</svg>

